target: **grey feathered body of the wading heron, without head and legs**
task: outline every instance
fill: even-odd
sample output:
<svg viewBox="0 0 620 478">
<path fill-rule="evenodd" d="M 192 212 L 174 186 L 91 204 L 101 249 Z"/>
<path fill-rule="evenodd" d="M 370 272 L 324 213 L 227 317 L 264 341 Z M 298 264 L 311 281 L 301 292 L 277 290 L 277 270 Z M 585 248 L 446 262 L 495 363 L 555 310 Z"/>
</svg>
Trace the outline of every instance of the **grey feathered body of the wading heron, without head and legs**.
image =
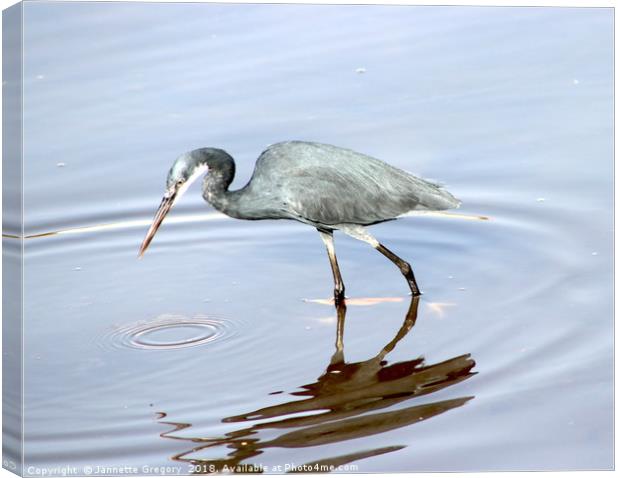
<svg viewBox="0 0 620 478">
<path fill-rule="evenodd" d="M 227 171 L 232 171 L 226 175 L 232 181 L 234 166 Z M 414 210 L 436 211 L 459 204 L 436 184 L 383 161 L 303 141 L 267 148 L 248 184 L 238 191 L 223 193 L 210 185 L 212 181 L 223 186 L 209 174 L 205 200 L 232 217 L 294 219 L 325 229 L 338 229 L 340 224 L 368 226 Z"/>
</svg>

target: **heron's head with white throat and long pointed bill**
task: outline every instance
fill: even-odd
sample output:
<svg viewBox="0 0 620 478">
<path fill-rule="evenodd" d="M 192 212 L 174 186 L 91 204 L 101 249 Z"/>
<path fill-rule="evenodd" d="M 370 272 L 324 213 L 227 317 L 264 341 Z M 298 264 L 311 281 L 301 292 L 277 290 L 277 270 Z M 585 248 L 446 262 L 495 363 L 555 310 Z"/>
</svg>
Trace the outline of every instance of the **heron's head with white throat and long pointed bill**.
<svg viewBox="0 0 620 478">
<path fill-rule="evenodd" d="M 210 157 L 210 148 L 201 148 L 179 156 L 170 171 L 166 180 L 166 192 L 161 200 L 159 209 L 155 213 L 153 223 L 146 233 L 144 241 L 140 246 L 138 257 L 142 257 L 147 247 L 155 237 L 155 233 L 162 221 L 172 209 L 172 206 L 185 194 L 189 186 L 198 179 L 208 169 L 207 160 Z"/>
</svg>

